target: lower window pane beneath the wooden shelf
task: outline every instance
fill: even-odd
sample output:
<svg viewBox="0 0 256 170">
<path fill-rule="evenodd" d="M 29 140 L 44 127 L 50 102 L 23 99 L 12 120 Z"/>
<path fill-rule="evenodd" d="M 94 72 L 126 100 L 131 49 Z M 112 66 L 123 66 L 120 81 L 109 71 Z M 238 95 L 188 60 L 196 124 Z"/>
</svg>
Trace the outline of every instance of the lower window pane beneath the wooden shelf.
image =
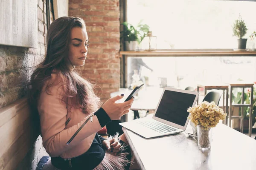
<svg viewBox="0 0 256 170">
<path fill-rule="evenodd" d="M 128 57 L 127 87 L 134 69 L 145 85 L 154 87 L 185 89 L 199 82 L 256 81 L 255 57 Z"/>
</svg>

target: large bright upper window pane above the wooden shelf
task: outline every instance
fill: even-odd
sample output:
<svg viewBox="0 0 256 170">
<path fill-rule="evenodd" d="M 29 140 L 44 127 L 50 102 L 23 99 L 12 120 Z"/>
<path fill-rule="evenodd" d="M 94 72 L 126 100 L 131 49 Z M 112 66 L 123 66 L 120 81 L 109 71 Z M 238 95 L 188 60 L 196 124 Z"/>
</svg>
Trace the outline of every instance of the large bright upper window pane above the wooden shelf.
<svg viewBox="0 0 256 170">
<path fill-rule="evenodd" d="M 232 26 L 241 13 L 252 48 L 256 2 L 224 0 L 128 0 L 128 23 L 143 20 L 157 36 L 157 49 L 233 49 Z"/>
</svg>

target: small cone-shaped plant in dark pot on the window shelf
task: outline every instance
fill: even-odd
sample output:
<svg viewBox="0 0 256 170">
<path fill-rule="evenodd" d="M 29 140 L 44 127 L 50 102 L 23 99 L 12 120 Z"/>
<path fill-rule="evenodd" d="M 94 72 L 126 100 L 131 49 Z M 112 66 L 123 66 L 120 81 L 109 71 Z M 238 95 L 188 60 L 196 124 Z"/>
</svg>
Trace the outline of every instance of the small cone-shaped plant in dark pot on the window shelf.
<svg viewBox="0 0 256 170">
<path fill-rule="evenodd" d="M 242 38 L 247 33 L 247 28 L 245 26 L 244 20 L 242 20 L 241 15 L 239 14 L 239 19 L 235 21 L 233 28 L 233 36 L 238 37 L 238 49 L 245 49 L 247 38 Z"/>
</svg>

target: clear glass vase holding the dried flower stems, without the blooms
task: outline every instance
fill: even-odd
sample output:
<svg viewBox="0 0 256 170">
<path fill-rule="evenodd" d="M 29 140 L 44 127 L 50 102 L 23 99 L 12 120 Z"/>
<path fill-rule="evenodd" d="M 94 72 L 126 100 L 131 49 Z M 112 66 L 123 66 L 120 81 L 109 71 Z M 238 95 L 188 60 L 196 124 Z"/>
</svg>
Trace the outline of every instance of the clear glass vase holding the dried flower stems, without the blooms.
<svg viewBox="0 0 256 170">
<path fill-rule="evenodd" d="M 212 128 L 205 129 L 204 126 L 197 125 L 198 148 L 210 150 L 212 145 Z"/>
</svg>

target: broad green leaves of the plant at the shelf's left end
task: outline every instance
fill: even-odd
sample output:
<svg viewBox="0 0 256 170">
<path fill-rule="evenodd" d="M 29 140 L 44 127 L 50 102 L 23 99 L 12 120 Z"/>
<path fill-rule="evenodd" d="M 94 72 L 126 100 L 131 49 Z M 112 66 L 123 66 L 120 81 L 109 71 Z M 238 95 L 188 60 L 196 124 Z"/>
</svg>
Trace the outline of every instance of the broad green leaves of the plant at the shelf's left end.
<svg viewBox="0 0 256 170">
<path fill-rule="evenodd" d="M 120 39 L 124 41 L 138 41 L 139 44 L 145 37 L 145 35 L 148 33 L 149 26 L 146 24 L 141 24 L 142 21 L 138 24 L 138 26 L 135 28 L 130 23 L 124 22 L 123 25 L 123 31 L 121 31 Z"/>
</svg>

